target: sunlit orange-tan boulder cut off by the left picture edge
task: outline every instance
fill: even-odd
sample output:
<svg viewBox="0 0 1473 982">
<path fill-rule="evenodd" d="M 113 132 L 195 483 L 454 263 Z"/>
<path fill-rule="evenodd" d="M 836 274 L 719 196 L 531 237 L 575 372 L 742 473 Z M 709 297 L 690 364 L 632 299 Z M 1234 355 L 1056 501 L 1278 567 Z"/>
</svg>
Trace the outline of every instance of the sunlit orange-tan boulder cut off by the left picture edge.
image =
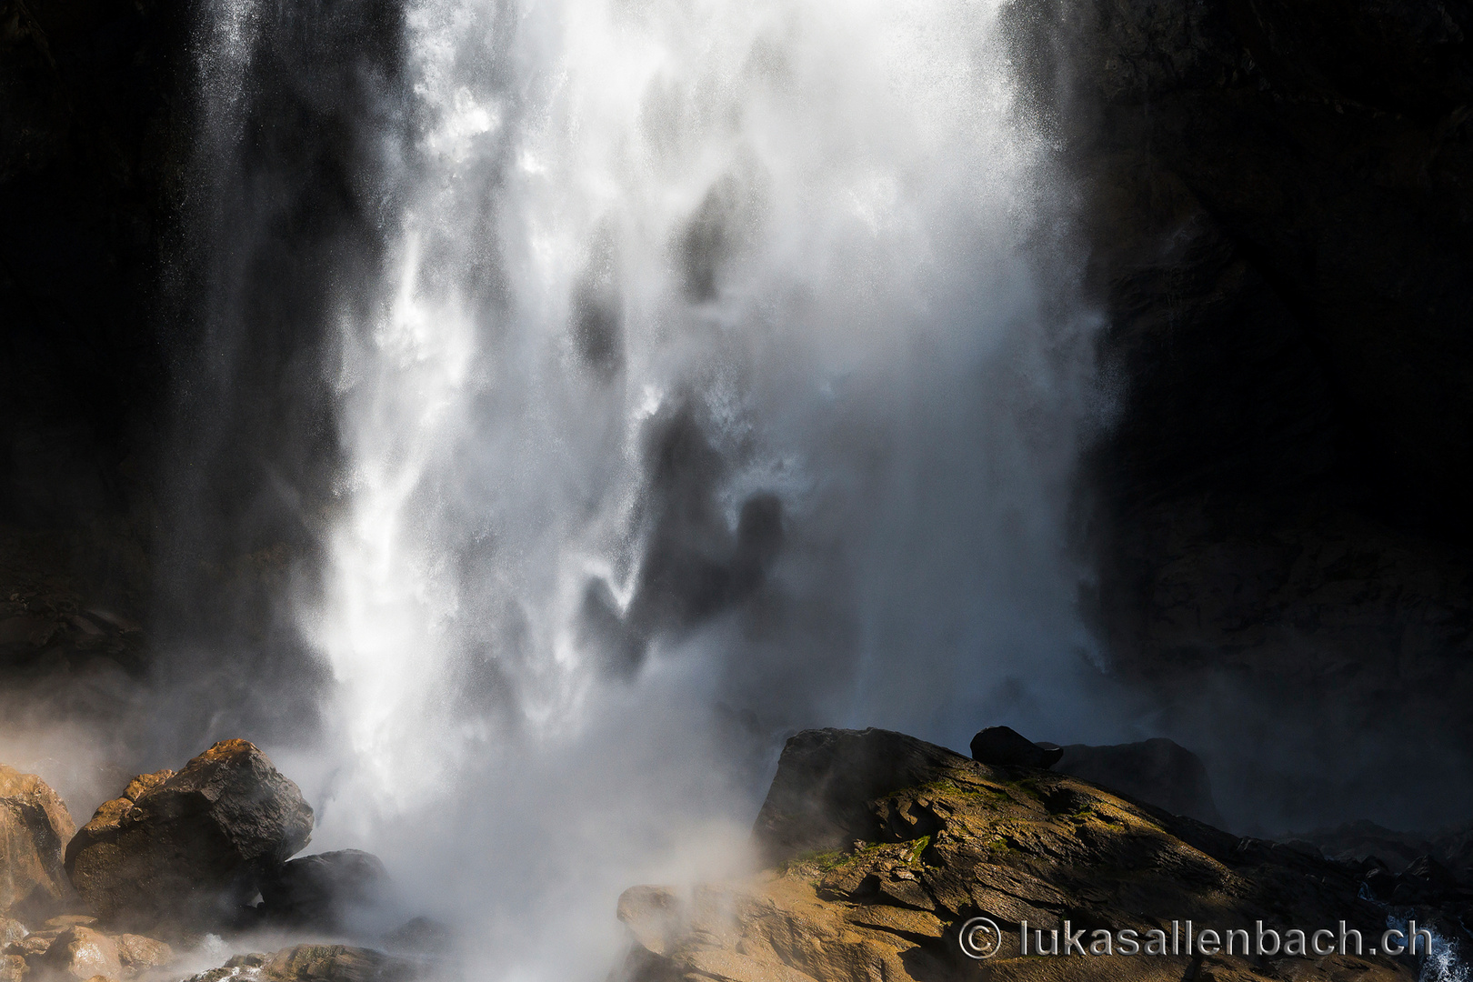
<svg viewBox="0 0 1473 982">
<path fill-rule="evenodd" d="M 75 833 L 66 804 L 44 780 L 0 764 L 0 914 L 37 923 L 75 898 L 62 866 Z"/>
</svg>

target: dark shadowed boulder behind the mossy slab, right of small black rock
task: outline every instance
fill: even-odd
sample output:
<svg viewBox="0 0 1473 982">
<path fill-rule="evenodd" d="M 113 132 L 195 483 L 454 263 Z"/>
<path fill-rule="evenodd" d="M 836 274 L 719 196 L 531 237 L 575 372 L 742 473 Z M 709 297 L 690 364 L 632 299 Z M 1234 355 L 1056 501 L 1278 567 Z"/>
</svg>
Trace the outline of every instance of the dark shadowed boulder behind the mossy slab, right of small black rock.
<svg viewBox="0 0 1473 982">
<path fill-rule="evenodd" d="M 1137 743 L 1069 743 L 1056 770 L 1122 791 L 1171 814 L 1221 826 L 1202 758 L 1162 736 Z"/>
</svg>

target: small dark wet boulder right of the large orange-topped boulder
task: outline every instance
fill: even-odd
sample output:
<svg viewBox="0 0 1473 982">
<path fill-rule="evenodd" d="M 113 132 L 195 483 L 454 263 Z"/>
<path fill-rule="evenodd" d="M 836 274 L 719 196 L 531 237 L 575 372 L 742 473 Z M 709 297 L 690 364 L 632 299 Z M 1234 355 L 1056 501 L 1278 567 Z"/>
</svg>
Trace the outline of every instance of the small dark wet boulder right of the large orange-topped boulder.
<svg viewBox="0 0 1473 982">
<path fill-rule="evenodd" d="M 355 914 L 377 907 L 387 888 L 389 872 L 373 852 L 303 855 L 262 880 L 262 913 L 280 925 L 340 930 Z"/>
</svg>

